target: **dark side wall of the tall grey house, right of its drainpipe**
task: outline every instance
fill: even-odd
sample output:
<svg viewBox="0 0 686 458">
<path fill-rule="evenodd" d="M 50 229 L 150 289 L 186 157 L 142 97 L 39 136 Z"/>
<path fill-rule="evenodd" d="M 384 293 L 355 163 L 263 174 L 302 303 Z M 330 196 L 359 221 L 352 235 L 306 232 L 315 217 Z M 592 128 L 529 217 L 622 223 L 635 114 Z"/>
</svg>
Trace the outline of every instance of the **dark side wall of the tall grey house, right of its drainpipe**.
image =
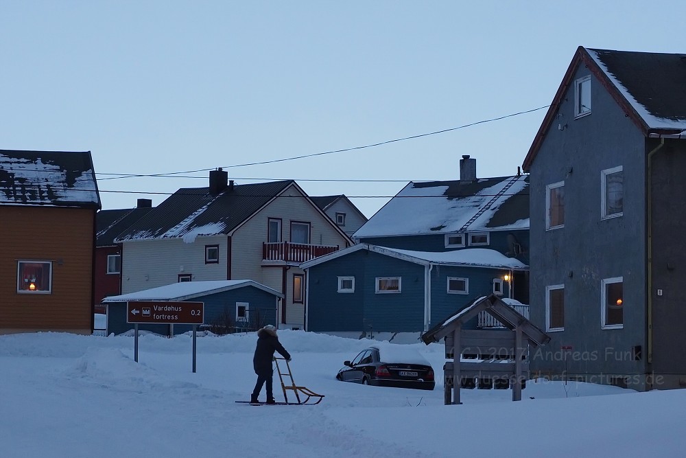
<svg viewBox="0 0 686 458">
<path fill-rule="evenodd" d="M 648 142 L 646 152 L 659 145 Z M 652 371 L 663 376 L 655 387 L 686 387 L 686 307 L 682 290 L 686 253 L 684 201 L 686 182 L 686 140 L 665 140 L 652 155 Z M 658 295 L 658 289 L 662 295 Z"/>
</svg>

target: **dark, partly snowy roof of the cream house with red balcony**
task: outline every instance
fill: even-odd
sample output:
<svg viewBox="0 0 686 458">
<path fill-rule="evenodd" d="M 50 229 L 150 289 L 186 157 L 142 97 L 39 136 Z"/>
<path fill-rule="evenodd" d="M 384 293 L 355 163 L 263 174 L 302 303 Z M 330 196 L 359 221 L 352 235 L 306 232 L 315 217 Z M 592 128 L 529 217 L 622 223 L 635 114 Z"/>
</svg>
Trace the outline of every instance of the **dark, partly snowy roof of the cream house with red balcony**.
<svg viewBox="0 0 686 458">
<path fill-rule="evenodd" d="M 215 236 L 230 233 L 293 180 L 235 185 L 213 196 L 209 187 L 185 187 L 169 196 L 115 238 L 115 242 Z M 304 194 L 304 193 L 303 193 Z"/>
</svg>

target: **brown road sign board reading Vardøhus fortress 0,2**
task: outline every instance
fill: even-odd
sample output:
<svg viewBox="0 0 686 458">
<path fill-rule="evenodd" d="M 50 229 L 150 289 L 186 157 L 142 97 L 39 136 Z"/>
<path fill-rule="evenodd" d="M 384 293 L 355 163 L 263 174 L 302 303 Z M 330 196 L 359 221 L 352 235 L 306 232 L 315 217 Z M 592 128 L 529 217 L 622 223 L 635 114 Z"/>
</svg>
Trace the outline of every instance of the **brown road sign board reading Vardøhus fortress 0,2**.
<svg viewBox="0 0 686 458">
<path fill-rule="evenodd" d="M 129 301 L 127 323 L 202 324 L 203 302 Z"/>
</svg>

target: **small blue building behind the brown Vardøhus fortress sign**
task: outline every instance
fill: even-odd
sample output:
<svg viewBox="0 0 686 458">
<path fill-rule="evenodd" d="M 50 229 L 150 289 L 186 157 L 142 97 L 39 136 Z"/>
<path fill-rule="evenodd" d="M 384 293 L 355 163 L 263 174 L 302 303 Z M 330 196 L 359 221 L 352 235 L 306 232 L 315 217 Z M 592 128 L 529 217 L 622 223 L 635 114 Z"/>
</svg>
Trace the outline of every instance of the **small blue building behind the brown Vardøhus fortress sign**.
<svg viewBox="0 0 686 458">
<path fill-rule="evenodd" d="M 271 324 L 278 327 L 276 311 L 283 294 L 252 280 L 179 282 L 137 293 L 106 297 L 107 335 L 134 328 L 126 322 L 129 301 L 191 301 L 204 303 L 203 329 L 214 332 L 257 330 Z M 191 325 L 139 324 L 139 330 L 175 335 L 191 330 Z"/>
</svg>

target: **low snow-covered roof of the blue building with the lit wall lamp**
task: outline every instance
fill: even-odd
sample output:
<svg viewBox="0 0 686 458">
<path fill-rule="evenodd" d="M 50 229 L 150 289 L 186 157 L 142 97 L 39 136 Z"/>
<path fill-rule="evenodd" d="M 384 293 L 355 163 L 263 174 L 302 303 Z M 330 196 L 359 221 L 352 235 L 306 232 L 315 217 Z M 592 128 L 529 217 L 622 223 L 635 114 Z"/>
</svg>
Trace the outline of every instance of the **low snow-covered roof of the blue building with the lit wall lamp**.
<svg viewBox="0 0 686 458">
<path fill-rule="evenodd" d="M 359 250 L 368 250 L 386 256 L 397 257 L 415 264 L 442 264 L 447 266 L 469 266 L 484 268 L 507 268 L 527 270 L 528 266 L 514 257 L 507 257 L 499 251 L 486 248 L 467 248 L 453 251 L 412 251 L 379 247 L 368 243 L 358 243 L 352 247 L 329 253 L 300 264 L 300 268 L 310 268 L 322 262 L 329 262 Z"/>
</svg>

